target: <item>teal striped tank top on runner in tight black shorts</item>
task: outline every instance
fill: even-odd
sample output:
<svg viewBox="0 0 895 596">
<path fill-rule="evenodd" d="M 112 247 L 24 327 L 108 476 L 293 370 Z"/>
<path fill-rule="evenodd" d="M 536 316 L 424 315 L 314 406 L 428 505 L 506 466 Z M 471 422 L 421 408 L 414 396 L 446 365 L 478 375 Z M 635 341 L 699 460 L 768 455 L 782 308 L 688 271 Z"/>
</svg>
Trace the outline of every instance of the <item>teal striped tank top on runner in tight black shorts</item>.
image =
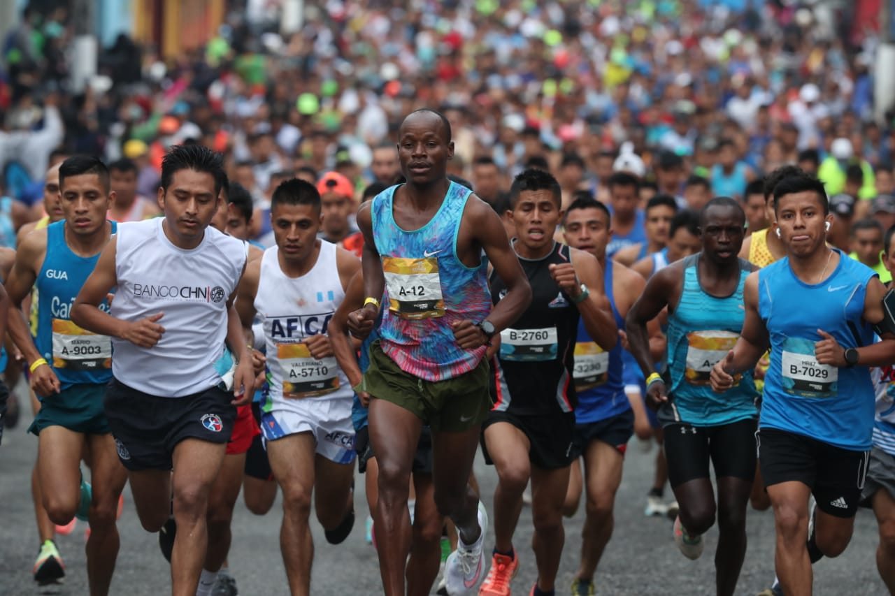
<svg viewBox="0 0 895 596">
<path fill-rule="evenodd" d="M 684 260 L 680 302 L 669 313 L 668 392 L 676 421 L 718 426 L 754 418 L 758 413 L 751 370 L 725 393 L 716 393 L 709 383 L 712 367 L 733 348 L 743 329 L 743 286 L 751 266 L 740 259 L 737 289 L 719 298 L 707 294 L 699 281 L 702 254 Z"/>
</svg>

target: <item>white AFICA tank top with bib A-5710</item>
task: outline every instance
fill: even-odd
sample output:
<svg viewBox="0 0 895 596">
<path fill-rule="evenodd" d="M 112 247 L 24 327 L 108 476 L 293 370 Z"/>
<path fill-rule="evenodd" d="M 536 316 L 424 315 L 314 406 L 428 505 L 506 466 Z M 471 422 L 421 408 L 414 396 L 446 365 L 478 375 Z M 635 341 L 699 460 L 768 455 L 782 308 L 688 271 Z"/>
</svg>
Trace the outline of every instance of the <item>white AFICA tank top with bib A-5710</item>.
<svg viewBox="0 0 895 596">
<path fill-rule="evenodd" d="M 287 277 L 276 246 L 261 257 L 255 310 L 264 327 L 268 385 L 274 399 L 352 398 L 354 390 L 333 357 L 311 357 L 303 342 L 326 334 L 329 319 L 345 300 L 335 244 L 320 241 L 317 262 L 302 277 Z"/>
</svg>

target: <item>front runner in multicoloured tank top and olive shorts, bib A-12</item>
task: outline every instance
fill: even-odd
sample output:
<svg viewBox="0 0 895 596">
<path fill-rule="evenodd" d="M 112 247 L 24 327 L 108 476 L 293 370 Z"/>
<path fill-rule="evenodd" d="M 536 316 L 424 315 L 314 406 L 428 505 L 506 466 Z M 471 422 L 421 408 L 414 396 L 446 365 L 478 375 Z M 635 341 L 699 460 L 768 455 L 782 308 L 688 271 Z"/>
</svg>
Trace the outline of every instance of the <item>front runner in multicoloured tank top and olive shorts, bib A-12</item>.
<svg viewBox="0 0 895 596">
<path fill-rule="evenodd" d="M 409 523 L 413 451 L 428 422 L 436 502 L 459 533 L 447 558 L 447 590 L 468 592 L 481 580 L 487 526 L 467 483 L 490 402 L 482 357 L 490 338 L 525 310 L 531 287 L 494 209 L 448 181 L 454 143 L 444 115 L 430 109 L 408 115 L 398 129 L 397 154 L 407 182 L 357 214 L 367 297 L 348 319 L 355 335 L 368 335 L 388 292 L 380 340 L 371 345 L 364 373 L 372 396 L 370 438 L 388 472 L 379 474 L 379 570 L 386 594 L 405 593 L 409 545 L 400 537 Z M 485 259 L 508 287 L 493 309 Z M 442 283 L 442 271 L 451 285 Z"/>
</svg>

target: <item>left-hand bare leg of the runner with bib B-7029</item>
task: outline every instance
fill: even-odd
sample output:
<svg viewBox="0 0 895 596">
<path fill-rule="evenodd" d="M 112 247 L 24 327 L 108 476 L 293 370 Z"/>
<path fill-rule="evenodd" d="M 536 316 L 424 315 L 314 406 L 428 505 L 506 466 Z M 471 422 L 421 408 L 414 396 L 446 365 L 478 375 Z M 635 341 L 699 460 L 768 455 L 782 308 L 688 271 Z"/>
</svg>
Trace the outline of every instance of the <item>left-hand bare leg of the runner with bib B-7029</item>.
<svg viewBox="0 0 895 596">
<path fill-rule="evenodd" d="M 808 497 L 811 489 L 799 481 L 780 482 L 768 487 L 777 546 L 774 565 L 787 596 L 809 596 L 813 575 L 805 541 L 808 538 Z"/>
</svg>

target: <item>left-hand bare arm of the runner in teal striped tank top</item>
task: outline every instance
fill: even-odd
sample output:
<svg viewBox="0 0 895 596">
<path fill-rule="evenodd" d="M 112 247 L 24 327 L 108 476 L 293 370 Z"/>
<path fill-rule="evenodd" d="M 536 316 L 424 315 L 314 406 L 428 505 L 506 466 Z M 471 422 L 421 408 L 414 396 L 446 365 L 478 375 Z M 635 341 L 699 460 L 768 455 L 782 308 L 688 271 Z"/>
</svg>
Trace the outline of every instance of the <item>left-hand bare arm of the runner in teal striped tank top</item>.
<svg viewBox="0 0 895 596">
<path fill-rule="evenodd" d="M 666 267 L 650 277 L 644 287 L 644 293 L 631 305 L 625 317 L 625 329 L 631 354 L 635 357 L 644 377 L 655 371 L 655 362 L 650 349 L 650 333 L 647 325 L 669 303 L 669 297 L 678 291 L 681 270 L 674 265 Z"/>
</svg>

